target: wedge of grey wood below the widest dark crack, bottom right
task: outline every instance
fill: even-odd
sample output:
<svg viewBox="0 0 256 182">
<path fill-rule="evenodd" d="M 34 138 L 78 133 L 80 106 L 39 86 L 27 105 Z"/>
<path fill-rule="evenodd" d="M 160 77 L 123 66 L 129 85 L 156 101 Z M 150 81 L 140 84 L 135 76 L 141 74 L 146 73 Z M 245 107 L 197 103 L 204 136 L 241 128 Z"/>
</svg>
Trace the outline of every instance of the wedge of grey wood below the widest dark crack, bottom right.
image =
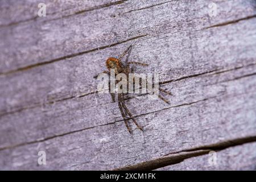
<svg viewBox="0 0 256 182">
<path fill-rule="evenodd" d="M 183 162 L 159 168 L 158 170 L 256 170 L 256 143 L 216 151 L 213 153 L 185 159 Z"/>
</svg>

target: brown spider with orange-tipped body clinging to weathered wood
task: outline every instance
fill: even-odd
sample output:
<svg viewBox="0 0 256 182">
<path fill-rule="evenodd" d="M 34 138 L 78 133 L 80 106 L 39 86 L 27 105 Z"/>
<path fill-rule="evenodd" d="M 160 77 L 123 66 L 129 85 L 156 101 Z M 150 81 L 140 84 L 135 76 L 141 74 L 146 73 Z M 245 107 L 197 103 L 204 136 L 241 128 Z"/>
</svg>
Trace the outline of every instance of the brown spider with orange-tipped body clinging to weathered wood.
<svg viewBox="0 0 256 182">
<path fill-rule="evenodd" d="M 148 66 L 148 64 L 145 63 L 139 63 L 136 61 L 129 61 L 128 62 L 128 57 L 129 57 L 129 53 L 131 50 L 131 46 L 129 46 L 120 56 L 118 56 L 118 58 L 115 57 L 109 57 L 106 60 L 106 67 L 108 68 L 108 71 L 104 71 L 102 73 L 107 73 L 110 76 L 110 69 L 114 69 L 115 75 L 117 75 L 118 73 L 125 73 L 125 75 L 127 76 L 127 80 L 129 77 L 129 73 L 133 73 L 133 69 L 130 68 L 131 64 L 136 64 L 136 65 L 141 65 L 141 66 Z M 128 53 L 128 56 L 126 58 L 125 64 L 122 63 L 121 59 L 123 58 L 123 56 L 126 55 L 126 53 Z M 96 78 L 97 76 L 95 76 L 94 78 Z M 110 84 L 110 83 L 109 83 Z M 141 84 L 141 80 L 140 80 L 140 84 Z M 110 86 L 109 86 L 110 89 Z M 168 92 L 167 90 L 161 89 L 159 88 L 159 92 L 163 92 L 169 95 L 172 95 L 170 92 Z M 115 102 L 115 94 L 114 93 L 110 93 L 111 97 L 112 97 L 112 101 Z M 170 104 L 164 97 L 158 95 L 158 97 L 163 100 L 164 102 L 166 102 L 167 104 Z M 138 129 L 142 130 L 142 127 L 137 123 L 137 121 L 134 119 L 133 115 L 131 114 L 130 110 L 127 108 L 127 106 L 125 105 L 125 98 L 124 98 L 124 94 L 123 93 L 118 93 L 117 94 L 117 98 L 118 98 L 118 107 L 121 111 L 123 120 L 125 121 L 125 125 L 127 127 L 127 130 L 129 131 L 129 133 L 131 134 L 131 128 L 128 125 L 128 120 L 132 119 L 133 122 L 135 123 L 135 125 L 138 127 Z M 129 116 L 129 117 L 128 117 Z"/>
</svg>

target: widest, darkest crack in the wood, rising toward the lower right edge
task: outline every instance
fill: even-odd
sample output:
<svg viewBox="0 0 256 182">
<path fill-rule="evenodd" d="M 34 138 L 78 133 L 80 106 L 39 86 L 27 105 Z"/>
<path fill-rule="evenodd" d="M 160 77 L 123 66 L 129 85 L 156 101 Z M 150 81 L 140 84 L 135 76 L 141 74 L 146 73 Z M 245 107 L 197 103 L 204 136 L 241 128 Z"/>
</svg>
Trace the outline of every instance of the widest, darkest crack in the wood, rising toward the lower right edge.
<svg viewBox="0 0 256 182">
<path fill-rule="evenodd" d="M 147 162 L 138 163 L 131 166 L 115 168 L 114 171 L 121 170 L 154 170 L 165 166 L 171 166 L 183 162 L 185 159 L 195 156 L 208 154 L 210 151 L 221 151 L 229 147 L 240 146 L 242 144 L 256 142 L 256 136 L 250 136 L 245 138 L 237 138 L 232 140 L 226 140 L 206 146 L 191 148 L 188 150 L 181 150 L 164 155 L 161 158 L 149 160 Z"/>
</svg>

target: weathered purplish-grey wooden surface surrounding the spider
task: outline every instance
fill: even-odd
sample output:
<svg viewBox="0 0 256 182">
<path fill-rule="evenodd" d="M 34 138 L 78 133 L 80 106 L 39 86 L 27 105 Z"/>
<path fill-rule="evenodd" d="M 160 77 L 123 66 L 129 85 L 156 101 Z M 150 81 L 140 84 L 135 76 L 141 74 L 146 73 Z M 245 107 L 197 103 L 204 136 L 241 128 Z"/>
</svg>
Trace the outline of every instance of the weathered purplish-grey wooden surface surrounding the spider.
<svg viewBox="0 0 256 182">
<path fill-rule="evenodd" d="M 45 2 L 0 1 L 0 169 L 208 169 L 226 141 L 215 169 L 255 169 L 255 1 Z M 133 43 L 174 96 L 127 101 L 130 135 L 93 76 Z"/>
</svg>

